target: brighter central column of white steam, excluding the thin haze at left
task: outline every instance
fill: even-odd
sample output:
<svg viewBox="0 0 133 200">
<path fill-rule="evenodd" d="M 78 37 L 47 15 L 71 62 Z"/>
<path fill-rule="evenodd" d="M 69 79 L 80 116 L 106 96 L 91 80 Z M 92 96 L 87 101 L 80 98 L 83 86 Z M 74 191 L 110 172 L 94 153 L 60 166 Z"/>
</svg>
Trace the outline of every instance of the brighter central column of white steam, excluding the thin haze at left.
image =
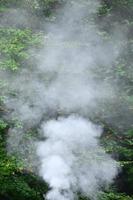
<svg viewBox="0 0 133 200">
<path fill-rule="evenodd" d="M 51 188 L 48 200 L 73 200 L 78 192 L 96 199 L 101 186 L 111 183 L 117 173 L 116 162 L 100 147 L 102 130 L 83 117 L 71 116 L 89 116 L 98 109 L 98 101 L 109 101 L 115 95 L 112 85 L 95 79 L 94 71 L 97 65 L 110 65 L 116 59 L 119 45 L 101 41 L 97 27 L 91 24 L 99 4 L 86 3 L 69 2 L 61 20 L 48 26 L 52 34 L 39 66 L 48 77 L 45 105 L 70 115 L 42 124 L 46 139 L 38 143 L 37 155 L 40 175 Z M 87 25 L 85 17 L 90 20 Z M 109 57 L 108 51 L 112 52 Z"/>
</svg>

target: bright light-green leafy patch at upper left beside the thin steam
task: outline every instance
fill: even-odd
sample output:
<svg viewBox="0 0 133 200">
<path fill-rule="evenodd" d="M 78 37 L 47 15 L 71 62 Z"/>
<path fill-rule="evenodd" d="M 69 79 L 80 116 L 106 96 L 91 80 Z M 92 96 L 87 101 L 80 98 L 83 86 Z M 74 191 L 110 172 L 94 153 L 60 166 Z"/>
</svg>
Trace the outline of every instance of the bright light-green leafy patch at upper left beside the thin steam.
<svg viewBox="0 0 133 200">
<path fill-rule="evenodd" d="M 29 58 L 28 48 L 40 42 L 41 34 L 29 29 L 0 28 L 0 68 L 17 70 Z"/>
</svg>

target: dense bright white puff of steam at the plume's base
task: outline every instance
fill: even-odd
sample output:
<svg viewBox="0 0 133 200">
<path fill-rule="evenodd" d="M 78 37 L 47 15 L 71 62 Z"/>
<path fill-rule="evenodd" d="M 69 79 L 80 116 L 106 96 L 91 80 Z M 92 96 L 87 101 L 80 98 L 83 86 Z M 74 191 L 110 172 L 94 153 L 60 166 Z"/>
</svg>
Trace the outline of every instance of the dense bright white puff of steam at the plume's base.
<svg viewBox="0 0 133 200">
<path fill-rule="evenodd" d="M 77 192 L 91 199 L 110 183 L 117 165 L 100 147 L 102 130 L 77 116 L 42 124 L 44 142 L 38 143 L 40 175 L 49 183 L 49 200 L 73 200 Z"/>
</svg>

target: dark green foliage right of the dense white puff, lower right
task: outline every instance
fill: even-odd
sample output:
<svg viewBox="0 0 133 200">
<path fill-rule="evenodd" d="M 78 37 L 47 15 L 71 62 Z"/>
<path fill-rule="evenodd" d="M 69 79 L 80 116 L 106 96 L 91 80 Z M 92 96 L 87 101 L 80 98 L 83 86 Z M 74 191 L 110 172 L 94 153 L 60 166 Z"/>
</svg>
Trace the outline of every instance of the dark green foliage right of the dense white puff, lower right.
<svg viewBox="0 0 133 200">
<path fill-rule="evenodd" d="M 121 166 L 119 181 L 123 186 L 118 185 L 121 191 L 132 193 L 133 185 L 133 129 L 125 133 L 106 131 L 102 144 L 108 153 L 117 157 Z M 128 187 L 126 187 L 128 185 Z"/>
</svg>

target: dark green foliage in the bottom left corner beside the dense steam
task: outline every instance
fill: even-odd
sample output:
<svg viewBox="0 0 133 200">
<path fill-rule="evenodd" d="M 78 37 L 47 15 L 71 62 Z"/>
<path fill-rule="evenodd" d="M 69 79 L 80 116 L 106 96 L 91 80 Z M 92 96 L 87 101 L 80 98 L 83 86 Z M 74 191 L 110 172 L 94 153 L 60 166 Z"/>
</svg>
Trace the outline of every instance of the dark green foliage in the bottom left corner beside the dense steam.
<svg viewBox="0 0 133 200">
<path fill-rule="evenodd" d="M 0 120 L 0 197 L 10 200 L 43 200 L 47 185 L 32 172 L 23 168 L 23 163 L 6 153 L 5 138 L 8 124 Z"/>
</svg>

